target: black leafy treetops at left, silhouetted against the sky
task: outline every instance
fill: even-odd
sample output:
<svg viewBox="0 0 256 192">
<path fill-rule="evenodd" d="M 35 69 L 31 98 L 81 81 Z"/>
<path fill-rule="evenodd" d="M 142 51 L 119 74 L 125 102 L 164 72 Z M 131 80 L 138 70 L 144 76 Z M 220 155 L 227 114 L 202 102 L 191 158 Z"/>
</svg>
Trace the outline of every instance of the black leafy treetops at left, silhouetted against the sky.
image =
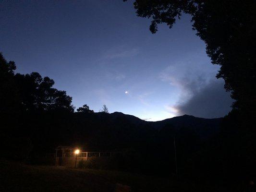
<svg viewBox="0 0 256 192">
<path fill-rule="evenodd" d="M 15 69 L 15 63 L 0 54 L 0 112 L 73 112 L 72 97 L 53 88 L 52 79 L 38 72 L 14 74 Z"/>
</svg>

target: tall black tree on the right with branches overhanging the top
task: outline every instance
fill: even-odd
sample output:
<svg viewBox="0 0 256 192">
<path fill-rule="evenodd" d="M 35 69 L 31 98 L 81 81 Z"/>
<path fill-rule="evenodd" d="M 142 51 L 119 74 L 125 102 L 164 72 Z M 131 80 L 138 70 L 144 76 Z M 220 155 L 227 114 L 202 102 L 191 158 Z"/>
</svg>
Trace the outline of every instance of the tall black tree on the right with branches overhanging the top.
<svg viewBox="0 0 256 192">
<path fill-rule="evenodd" d="M 217 78 L 225 80 L 226 90 L 236 100 L 233 108 L 255 114 L 255 0 L 135 0 L 134 8 L 138 16 L 152 18 L 153 34 L 158 24 L 171 28 L 183 12 L 192 15 L 193 29 L 206 43 L 207 55 L 220 65 Z"/>
</svg>

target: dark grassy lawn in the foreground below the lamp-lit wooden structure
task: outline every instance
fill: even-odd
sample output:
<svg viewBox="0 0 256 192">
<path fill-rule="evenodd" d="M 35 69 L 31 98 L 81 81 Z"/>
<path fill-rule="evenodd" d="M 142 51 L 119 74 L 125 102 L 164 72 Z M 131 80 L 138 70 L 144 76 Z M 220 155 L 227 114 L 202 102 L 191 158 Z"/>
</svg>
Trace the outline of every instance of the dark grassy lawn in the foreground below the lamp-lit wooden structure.
<svg viewBox="0 0 256 192">
<path fill-rule="evenodd" d="M 171 179 L 120 171 L 29 166 L 0 161 L 0 192 L 115 192 L 116 183 L 132 192 L 174 189 Z"/>
</svg>

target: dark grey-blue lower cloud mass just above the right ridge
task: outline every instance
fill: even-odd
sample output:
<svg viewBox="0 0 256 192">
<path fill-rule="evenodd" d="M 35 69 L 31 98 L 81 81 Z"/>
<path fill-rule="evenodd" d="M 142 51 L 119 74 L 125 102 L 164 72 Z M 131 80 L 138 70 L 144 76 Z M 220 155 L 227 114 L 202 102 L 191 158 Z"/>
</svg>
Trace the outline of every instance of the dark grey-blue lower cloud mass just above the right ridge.
<svg viewBox="0 0 256 192">
<path fill-rule="evenodd" d="M 200 89 L 188 86 L 191 97 L 175 106 L 179 115 L 188 114 L 202 118 L 218 118 L 231 110 L 232 98 L 223 88 L 223 80 L 212 80 Z"/>
</svg>

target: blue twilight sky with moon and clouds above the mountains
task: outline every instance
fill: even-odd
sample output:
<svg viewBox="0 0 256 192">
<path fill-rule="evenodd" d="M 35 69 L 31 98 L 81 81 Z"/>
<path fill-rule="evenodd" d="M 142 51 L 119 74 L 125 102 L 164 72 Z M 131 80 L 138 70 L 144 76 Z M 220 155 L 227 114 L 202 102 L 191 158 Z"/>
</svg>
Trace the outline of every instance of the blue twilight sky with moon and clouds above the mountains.
<svg viewBox="0 0 256 192">
<path fill-rule="evenodd" d="M 106 104 L 144 120 L 223 117 L 232 100 L 183 15 L 152 35 L 132 1 L 0 1 L 0 52 L 16 72 L 39 72 L 78 108 Z"/>
</svg>

